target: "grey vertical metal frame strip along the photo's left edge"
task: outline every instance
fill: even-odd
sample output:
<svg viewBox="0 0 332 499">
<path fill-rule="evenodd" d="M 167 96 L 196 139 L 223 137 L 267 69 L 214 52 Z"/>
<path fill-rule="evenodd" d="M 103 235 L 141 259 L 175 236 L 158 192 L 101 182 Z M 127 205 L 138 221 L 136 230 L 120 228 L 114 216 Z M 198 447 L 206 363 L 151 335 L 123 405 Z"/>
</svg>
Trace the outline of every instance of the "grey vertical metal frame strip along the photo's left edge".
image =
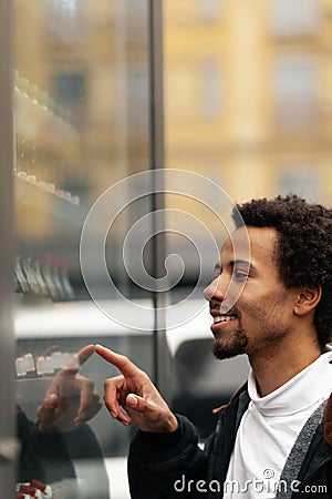
<svg viewBox="0 0 332 499">
<path fill-rule="evenodd" d="M 0 3 L 0 483 L 12 497 L 15 482 L 13 261 L 13 2 Z"/>
</svg>

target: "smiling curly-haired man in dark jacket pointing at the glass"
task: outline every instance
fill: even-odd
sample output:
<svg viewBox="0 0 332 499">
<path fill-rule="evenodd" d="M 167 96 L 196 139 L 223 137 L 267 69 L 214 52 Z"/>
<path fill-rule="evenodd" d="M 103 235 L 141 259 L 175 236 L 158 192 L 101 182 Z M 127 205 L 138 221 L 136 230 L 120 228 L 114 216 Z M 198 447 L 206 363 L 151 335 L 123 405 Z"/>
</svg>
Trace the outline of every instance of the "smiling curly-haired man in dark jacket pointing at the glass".
<svg viewBox="0 0 332 499">
<path fill-rule="evenodd" d="M 96 347 L 122 373 L 105 381 L 110 413 L 139 430 L 134 499 L 332 497 L 332 211 L 295 195 L 238 210 L 246 227 L 235 212 L 205 297 L 215 356 L 247 354 L 251 371 L 204 451 L 146 374 Z"/>
</svg>

